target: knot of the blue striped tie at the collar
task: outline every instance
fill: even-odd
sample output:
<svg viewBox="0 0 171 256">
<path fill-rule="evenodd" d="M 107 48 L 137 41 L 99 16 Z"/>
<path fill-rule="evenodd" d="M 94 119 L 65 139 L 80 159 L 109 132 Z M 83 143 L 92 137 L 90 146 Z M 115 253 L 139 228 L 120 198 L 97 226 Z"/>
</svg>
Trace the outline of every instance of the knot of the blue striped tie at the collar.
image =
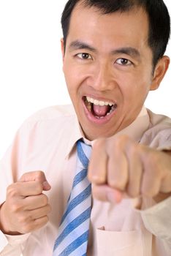
<svg viewBox="0 0 171 256">
<path fill-rule="evenodd" d="M 88 162 L 91 156 L 91 146 L 83 143 L 83 141 L 77 141 L 77 155 L 85 169 L 88 168 Z"/>
</svg>

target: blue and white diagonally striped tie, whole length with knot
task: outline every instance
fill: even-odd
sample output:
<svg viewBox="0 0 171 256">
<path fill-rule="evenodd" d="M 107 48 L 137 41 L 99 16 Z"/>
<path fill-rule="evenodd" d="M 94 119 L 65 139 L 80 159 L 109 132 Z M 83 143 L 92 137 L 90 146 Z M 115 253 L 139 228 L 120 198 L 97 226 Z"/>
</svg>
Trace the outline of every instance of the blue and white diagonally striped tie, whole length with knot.
<svg viewBox="0 0 171 256">
<path fill-rule="evenodd" d="M 77 141 L 77 168 L 72 192 L 61 219 L 53 256 L 86 256 L 91 214 L 91 184 L 87 178 L 91 146 Z"/>
</svg>

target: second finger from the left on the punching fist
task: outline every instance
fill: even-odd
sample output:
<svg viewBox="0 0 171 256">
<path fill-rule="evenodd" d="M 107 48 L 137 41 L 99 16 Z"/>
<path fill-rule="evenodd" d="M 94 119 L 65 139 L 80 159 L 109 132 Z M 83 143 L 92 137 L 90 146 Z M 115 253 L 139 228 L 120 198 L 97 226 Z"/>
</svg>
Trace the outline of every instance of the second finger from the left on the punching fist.
<svg viewBox="0 0 171 256">
<path fill-rule="evenodd" d="M 107 184 L 124 191 L 128 181 L 128 161 L 124 153 L 124 141 L 119 139 L 115 143 L 109 143 L 107 154 Z"/>
</svg>

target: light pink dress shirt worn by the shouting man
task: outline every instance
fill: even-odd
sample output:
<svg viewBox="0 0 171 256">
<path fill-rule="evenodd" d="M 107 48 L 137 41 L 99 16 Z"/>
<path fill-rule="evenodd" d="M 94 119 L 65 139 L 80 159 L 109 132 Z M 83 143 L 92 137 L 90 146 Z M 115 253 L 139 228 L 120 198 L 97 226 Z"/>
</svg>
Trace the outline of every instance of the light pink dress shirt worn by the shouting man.
<svg viewBox="0 0 171 256">
<path fill-rule="evenodd" d="M 171 120 L 142 108 L 119 134 L 158 149 L 171 149 Z M 117 136 L 117 135 L 115 135 Z M 31 170 L 43 170 L 51 185 L 45 192 L 50 221 L 33 233 L 6 236 L 0 232 L 0 255 L 50 256 L 75 175 L 75 142 L 83 138 L 72 106 L 41 110 L 24 122 L 0 163 L 0 204 L 9 184 Z M 89 142 L 90 143 L 90 142 Z M 115 205 L 93 200 L 88 256 L 170 256 L 171 198 L 156 204 L 143 198 L 142 210 L 125 198 Z"/>
</svg>

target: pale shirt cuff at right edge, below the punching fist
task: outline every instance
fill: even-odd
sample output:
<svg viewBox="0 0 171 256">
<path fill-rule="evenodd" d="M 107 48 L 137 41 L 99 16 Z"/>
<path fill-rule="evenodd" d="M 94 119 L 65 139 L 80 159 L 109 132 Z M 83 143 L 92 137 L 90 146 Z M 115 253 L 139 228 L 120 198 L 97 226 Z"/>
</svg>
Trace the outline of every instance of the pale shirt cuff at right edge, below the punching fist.
<svg viewBox="0 0 171 256">
<path fill-rule="evenodd" d="M 140 212 L 147 230 L 167 241 L 171 249 L 171 197 Z"/>
</svg>

